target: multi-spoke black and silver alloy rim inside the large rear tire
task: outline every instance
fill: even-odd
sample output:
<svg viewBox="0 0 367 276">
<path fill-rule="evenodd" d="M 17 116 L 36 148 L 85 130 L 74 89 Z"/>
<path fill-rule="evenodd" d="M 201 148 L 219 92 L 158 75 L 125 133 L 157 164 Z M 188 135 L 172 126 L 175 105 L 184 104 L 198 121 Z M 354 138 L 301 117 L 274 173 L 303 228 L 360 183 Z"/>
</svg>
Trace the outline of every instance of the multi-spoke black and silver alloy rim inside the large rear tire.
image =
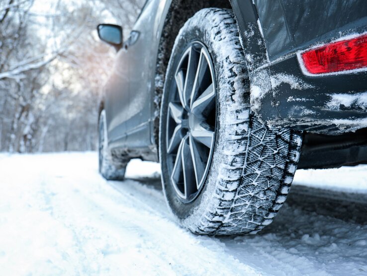
<svg viewBox="0 0 367 276">
<path fill-rule="evenodd" d="M 216 110 L 213 63 L 206 47 L 194 41 L 175 71 L 167 114 L 168 171 L 183 202 L 193 201 L 204 186 L 214 151 Z"/>
</svg>

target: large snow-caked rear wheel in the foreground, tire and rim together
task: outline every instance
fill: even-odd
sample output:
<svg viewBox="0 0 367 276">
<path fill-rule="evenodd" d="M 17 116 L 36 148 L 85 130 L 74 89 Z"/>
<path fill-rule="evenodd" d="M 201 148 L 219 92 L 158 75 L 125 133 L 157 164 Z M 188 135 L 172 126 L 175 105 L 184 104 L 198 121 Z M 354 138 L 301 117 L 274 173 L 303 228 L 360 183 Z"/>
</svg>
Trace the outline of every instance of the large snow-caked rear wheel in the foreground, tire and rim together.
<svg viewBox="0 0 367 276">
<path fill-rule="evenodd" d="M 200 56 L 207 57 L 205 73 L 200 72 Z M 233 12 L 206 8 L 184 24 L 168 64 L 160 116 L 162 184 L 173 214 L 196 234 L 260 231 L 283 204 L 296 170 L 301 136 L 271 131 L 252 116 L 244 63 Z M 210 79 L 202 84 L 198 77 L 208 76 L 208 70 L 213 71 L 214 100 L 207 92 Z M 195 102 L 210 97 L 207 112 L 206 107 L 200 110 L 205 115 L 195 115 Z M 197 138 L 200 128 L 213 132 L 212 143 L 202 138 L 205 134 Z M 195 169 L 198 159 L 201 170 Z"/>
</svg>

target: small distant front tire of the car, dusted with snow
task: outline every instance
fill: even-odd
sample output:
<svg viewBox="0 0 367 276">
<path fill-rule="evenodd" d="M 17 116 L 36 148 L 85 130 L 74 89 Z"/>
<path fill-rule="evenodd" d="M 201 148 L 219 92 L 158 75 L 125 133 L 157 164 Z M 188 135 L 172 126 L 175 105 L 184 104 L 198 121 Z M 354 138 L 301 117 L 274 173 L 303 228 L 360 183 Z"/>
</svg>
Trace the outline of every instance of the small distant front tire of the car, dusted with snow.
<svg viewBox="0 0 367 276">
<path fill-rule="evenodd" d="M 99 173 L 107 180 L 122 180 L 125 175 L 126 165 L 115 162 L 108 148 L 106 114 L 104 110 L 99 115 L 98 134 Z"/>
</svg>

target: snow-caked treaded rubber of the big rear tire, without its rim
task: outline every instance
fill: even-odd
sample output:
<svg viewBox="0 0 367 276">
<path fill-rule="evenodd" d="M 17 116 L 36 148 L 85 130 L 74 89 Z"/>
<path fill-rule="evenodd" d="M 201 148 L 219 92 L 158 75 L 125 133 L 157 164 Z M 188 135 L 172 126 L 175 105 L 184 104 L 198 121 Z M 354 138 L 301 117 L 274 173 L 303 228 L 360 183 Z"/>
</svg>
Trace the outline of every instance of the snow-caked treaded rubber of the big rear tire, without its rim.
<svg viewBox="0 0 367 276">
<path fill-rule="evenodd" d="M 196 234 L 256 233 L 272 222 L 286 198 L 299 158 L 301 136 L 290 130 L 270 131 L 252 117 L 245 56 L 231 10 L 205 8 L 187 20 L 176 38 L 169 70 L 175 48 L 185 36 L 195 33 L 203 35 L 197 39 L 203 40 L 214 61 L 217 138 L 205 187 L 191 212 L 177 219 Z M 164 175 L 162 179 L 168 205 L 177 215 Z"/>
</svg>

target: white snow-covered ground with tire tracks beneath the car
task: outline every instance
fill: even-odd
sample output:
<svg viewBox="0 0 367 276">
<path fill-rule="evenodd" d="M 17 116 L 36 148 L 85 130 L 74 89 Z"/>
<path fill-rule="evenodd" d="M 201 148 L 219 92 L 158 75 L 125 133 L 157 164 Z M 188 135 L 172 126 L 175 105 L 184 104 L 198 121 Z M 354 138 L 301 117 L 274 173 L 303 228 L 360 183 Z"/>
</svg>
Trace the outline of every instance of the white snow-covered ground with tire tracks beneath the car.
<svg viewBox="0 0 367 276">
<path fill-rule="evenodd" d="M 94 152 L 2 153 L 0 172 L 0 275 L 367 275 L 367 166 L 297 171 L 272 225 L 226 238 L 176 224 L 156 163 L 107 182 Z"/>
</svg>

